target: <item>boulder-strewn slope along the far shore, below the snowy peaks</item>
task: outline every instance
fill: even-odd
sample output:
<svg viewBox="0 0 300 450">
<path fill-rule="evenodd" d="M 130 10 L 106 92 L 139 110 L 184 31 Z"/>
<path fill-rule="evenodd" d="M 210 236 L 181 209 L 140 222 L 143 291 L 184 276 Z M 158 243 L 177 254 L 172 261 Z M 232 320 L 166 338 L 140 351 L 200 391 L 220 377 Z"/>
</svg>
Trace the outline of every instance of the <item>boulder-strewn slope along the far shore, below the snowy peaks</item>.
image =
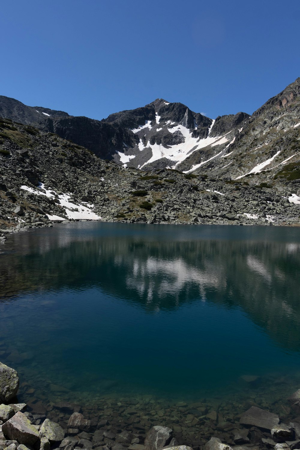
<svg viewBox="0 0 300 450">
<path fill-rule="evenodd" d="M 299 169 L 241 180 L 140 171 L 58 135 L 1 119 L 0 240 L 69 220 L 148 224 L 299 225 Z"/>
</svg>

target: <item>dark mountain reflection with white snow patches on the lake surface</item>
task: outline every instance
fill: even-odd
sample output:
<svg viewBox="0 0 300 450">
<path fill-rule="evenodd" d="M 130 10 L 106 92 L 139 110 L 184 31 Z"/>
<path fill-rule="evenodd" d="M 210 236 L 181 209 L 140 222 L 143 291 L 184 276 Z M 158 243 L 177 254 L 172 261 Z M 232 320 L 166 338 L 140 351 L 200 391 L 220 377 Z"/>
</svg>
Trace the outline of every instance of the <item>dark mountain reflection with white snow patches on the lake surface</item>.
<svg viewBox="0 0 300 450">
<path fill-rule="evenodd" d="M 94 236 L 94 224 L 86 231 L 77 229 L 74 236 L 67 225 L 55 233 L 45 229 L 35 236 L 13 236 L 19 251 L 0 260 L 3 300 L 36 290 L 98 286 L 154 313 L 200 299 L 242 308 L 278 345 L 299 350 L 300 240 L 295 233 L 291 240 L 284 233 L 276 240 L 280 235 L 273 229 L 267 230 L 268 238 L 261 230 L 259 238 L 251 240 L 248 233 L 250 239 L 243 241 L 246 231 L 229 230 L 229 240 L 220 240 L 217 233 L 204 230 L 201 236 L 182 229 L 175 232 L 175 241 L 175 234 L 168 236 L 157 227 L 145 234 L 143 226 L 96 226 Z"/>
</svg>

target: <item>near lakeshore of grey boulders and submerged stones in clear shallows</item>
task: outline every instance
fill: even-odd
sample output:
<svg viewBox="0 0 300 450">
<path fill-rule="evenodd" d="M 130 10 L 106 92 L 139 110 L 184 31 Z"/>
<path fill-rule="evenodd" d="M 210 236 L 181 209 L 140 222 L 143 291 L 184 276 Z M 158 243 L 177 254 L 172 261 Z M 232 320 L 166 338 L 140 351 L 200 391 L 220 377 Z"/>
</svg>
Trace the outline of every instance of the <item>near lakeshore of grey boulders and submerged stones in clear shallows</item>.
<svg viewBox="0 0 300 450">
<path fill-rule="evenodd" d="M 0 363 L 0 449 L 300 449 L 300 390 L 272 402 L 272 395 L 284 392 L 284 379 L 272 380 L 269 396 L 260 377 L 244 376 L 241 382 L 245 401 L 234 394 L 230 400 L 216 396 L 189 403 L 111 397 L 90 406 L 68 401 L 63 392 L 60 401 L 49 403 L 45 396 L 43 401 L 22 382 L 28 401 L 18 403 L 18 374 Z"/>
</svg>

